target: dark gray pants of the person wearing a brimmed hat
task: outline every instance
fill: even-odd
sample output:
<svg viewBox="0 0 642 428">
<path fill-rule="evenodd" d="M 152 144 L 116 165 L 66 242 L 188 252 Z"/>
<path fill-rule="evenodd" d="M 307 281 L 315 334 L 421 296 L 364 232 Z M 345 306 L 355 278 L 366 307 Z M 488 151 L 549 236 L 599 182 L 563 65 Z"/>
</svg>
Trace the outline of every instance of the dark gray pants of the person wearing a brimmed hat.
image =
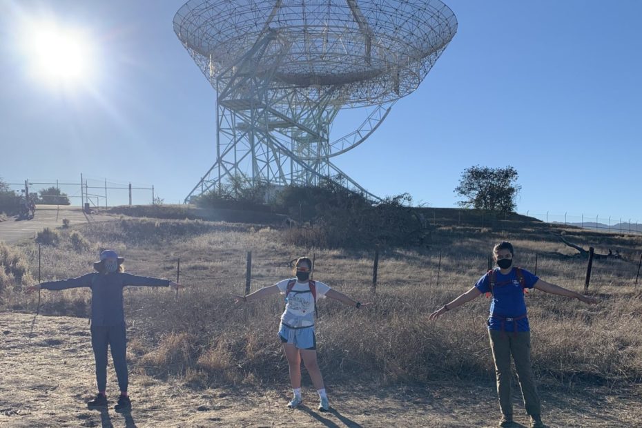
<svg viewBox="0 0 642 428">
<path fill-rule="evenodd" d="M 91 326 L 91 347 L 96 360 L 96 383 L 98 391 L 107 388 L 107 347 L 111 348 L 111 358 L 114 361 L 118 387 L 126 392 L 129 384 L 127 373 L 127 335 L 125 324 L 115 326 Z"/>
</svg>

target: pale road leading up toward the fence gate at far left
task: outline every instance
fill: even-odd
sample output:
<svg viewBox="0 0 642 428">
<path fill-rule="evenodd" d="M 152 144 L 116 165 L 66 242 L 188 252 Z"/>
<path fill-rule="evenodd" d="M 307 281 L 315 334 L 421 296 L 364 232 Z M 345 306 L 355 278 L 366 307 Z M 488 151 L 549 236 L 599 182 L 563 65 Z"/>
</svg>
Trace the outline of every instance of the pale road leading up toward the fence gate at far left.
<svg viewBox="0 0 642 428">
<path fill-rule="evenodd" d="M 18 220 L 14 216 L 6 222 L 0 222 L 0 241 L 10 244 L 34 237 L 43 228 L 61 226 L 64 218 L 68 219 L 70 224 L 114 219 L 109 215 L 85 215 L 79 206 L 37 205 L 36 213 L 30 220 Z"/>
</svg>

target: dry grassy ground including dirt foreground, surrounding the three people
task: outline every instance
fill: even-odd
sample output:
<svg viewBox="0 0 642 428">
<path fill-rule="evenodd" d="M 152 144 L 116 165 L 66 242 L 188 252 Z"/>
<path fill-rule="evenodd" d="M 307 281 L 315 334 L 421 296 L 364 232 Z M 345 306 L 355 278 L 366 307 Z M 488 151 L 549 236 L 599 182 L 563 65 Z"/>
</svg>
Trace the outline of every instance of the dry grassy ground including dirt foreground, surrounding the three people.
<svg viewBox="0 0 642 428">
<path fill-rule="evenodd" d="M 0 244 L 0 263 L 25 272 L 15 281 L 0 269 L 6 373 L 0 425 L 492 426 L 499 412 L 485 329 L 489 301 L 478 298 L 436 322 L 427 317 L 485 273 L 492 245 L 500 240 L 513 242 L 518 265 L 534 271 L 537 255 L 538 275 L 581 291 L 586 260 L 552 231 L 527 222 L 510 228 L 436 226 L 427 246 L 380 249 L 373 293 L 373 249 L 303 248 L 291 243 L 291 229 L 122 217 L 61 230 L 57 246 L 41 249 L 43 280 L 90 271 L 106 248 L 126 257 L 126 271 L 139 275 L 175 279 L 180 258 L 186 289 L 126 290 L 132 420 L 83 407 L 94 385 L 90 292 L 42 291 L 28 340 L 37 296 L 20 293 L 17 282 L 37 279 L 37 244 Z M 599 253 L 617 249 L 625 260 L 594 261 L 590 294 L 599 298 L 596 306 L 541 291 L 527 296 L 545 422 L 639 426 L 642 284 L 635 287 L 634 279 L 642 238 L 576 228 L 565 235 Z M 318 355 L 335 409 L 330 414 L 313 410 L 305 373 L 304 398 L 311 408 L 284 407 L 288 367 L 276 340 L 284 302 L 273 296 L 242 306 L 231 296 L 244 291 L 246 251 L 253 257 L 252 290 L 289 277 L 290 260 L 314 253 L 316 280 L 373 302 L 361 311 L 335 301 L 319 304 Z M 516 417 L 525 422 L 517 393 L 515 402 Z"/>
</svg>

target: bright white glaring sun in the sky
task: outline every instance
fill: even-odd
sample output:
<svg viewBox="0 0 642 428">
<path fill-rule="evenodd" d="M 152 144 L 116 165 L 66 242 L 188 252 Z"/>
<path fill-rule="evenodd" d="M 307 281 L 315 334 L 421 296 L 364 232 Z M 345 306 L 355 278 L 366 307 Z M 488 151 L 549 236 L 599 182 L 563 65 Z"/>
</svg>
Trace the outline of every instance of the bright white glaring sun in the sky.
<svg viewBox="0 0 642 428">
<path fill-rule="evenodd" d="M 23 53 L 37 79 L 64 86 L 88 81 L 93 50 L 84 32 L 39 22 L 30 23 L 23 35 Z"/>
</svg>

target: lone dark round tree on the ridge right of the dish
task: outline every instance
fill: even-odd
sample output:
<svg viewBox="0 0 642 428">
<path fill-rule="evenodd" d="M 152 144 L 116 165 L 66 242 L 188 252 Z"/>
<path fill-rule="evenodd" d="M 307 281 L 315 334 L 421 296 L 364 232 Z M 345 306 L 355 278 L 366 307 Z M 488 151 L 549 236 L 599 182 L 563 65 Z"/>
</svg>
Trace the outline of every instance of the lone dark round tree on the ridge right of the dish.
<svg viewBox="0 0 642 428">
<path fill-rule="evenodd" d="M 511 213 L 517 206 L 515 200 L 522 186 L 517 184 L 518 173 L 512 166 L 489 168 L 471 166 L 464 170 L 455 193 L 465 199 L 460 206 L 499 213 Z"/>
</svg>

